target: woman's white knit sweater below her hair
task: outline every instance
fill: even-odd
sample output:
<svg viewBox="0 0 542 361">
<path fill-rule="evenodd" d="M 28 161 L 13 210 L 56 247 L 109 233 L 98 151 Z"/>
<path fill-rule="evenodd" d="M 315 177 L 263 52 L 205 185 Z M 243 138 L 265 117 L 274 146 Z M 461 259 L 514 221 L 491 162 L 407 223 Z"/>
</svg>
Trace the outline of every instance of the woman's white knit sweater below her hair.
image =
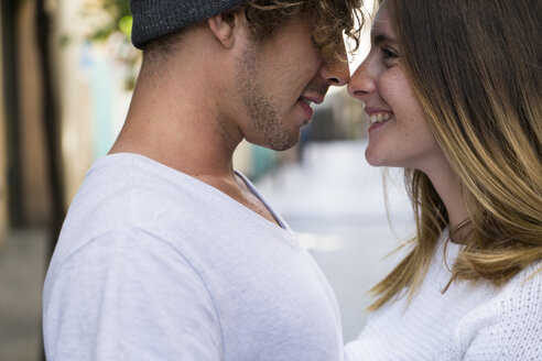
<svg viewBox="0 0 542 361">
<path fill-rule="evenodd" d="M 347 361 L 542 360 L 542 262 L 502 287 L 455 282 L 443 294 L 462 248 L 448 242 L 444 252 L 444 237 L 412 303 L 402 297 L 371 314 L 346 346 Z"/>
</svg>

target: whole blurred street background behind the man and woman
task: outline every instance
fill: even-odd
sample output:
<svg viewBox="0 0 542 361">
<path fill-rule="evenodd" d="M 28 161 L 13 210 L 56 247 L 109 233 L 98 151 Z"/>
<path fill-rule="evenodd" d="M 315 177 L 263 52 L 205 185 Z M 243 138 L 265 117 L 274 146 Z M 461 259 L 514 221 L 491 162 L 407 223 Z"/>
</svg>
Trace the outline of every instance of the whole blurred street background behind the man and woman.
<svg viewBox="0 0 542 361">
<path fill-rule="evenodd" d="M 2 361 L 43 358 L 45 271 L 72 198 L 124 120 L 141 59 L 130 29 L 128 0 L 0 0 Z M 327 275 L 345 342 L 365 324 L 367 291 L 401 256 L 386 255 L 413 230 L 401 173 L 365 161 L 366 127 L 362 103 L 334 89 L 297 146 L 242 143 L 235 155 Z"/>
</svg>

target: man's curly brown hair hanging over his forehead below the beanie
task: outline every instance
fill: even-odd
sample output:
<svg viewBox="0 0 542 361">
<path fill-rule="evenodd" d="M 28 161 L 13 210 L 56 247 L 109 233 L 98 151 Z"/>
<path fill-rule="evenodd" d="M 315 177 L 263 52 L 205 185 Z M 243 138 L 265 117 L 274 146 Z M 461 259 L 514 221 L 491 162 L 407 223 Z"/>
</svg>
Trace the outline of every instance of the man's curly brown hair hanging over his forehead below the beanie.
<svg viewBox="0 0 542 361">
<path fill-rule="evenodd" d="M 343 32 L 354 41 L 355 52 L 364 25 L 359 9 L 362 0 L 256 0 L 243 7 L 249 26 L 257 41 L 264 41 L 284 21 L 292 17 L 310 19 L 314 24 L 313 43 L 324 57 L 346 61 L 336 52 L 337 39 Z"/>
</svg>

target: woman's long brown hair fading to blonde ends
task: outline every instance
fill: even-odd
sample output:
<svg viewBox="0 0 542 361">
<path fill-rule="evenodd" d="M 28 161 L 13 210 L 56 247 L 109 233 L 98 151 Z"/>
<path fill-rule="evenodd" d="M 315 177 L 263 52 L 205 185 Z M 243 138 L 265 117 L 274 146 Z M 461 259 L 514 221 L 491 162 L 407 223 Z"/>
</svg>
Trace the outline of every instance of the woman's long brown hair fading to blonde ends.
<svg viewBox="0 0 542 361">
<path fill-rule="evenodd" d="M 502 285 L 542 259 L 540 0 L 387 0 L 401 66 L 462 186 L 469 219 L 452 282 Z M 419 289 L 448 216 L 427 176 L 405 169 L 416 219 L 406 258 L 371 291 L 378 309 Z M 540 270 L 539 270 L 540 271 Z"/>
</svg>

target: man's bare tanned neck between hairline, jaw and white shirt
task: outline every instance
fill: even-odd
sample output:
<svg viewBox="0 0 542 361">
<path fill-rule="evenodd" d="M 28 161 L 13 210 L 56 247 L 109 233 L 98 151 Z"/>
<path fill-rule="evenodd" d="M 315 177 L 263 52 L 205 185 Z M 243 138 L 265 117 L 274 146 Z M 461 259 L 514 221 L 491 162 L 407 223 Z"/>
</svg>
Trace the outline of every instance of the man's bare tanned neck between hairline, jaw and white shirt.
<svg viewBox="0 0 542 361">
<path fill-rule="evenodd" d="M 220 118 L 202 81 L 189 76 L 177 75 L 159 85 L 141 76 L 110 153 L 142 154 L 195 177 L 231 179 L 232 155 L 242 134 L 235 122 Z"/>
</svg>

